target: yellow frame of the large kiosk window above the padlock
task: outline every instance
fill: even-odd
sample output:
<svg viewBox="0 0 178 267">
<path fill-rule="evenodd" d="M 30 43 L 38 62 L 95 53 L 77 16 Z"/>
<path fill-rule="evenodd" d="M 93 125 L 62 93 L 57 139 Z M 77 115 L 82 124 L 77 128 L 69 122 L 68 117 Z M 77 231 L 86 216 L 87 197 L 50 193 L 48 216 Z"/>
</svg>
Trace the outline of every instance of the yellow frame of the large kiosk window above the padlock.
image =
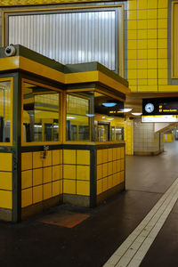
<svg viewBox="0 0 178 267">
<path fill-rule="evenodd" d="M 60 114 L 59 114 L 59 120 L 60 120 L 60 139 L 59 141 L 56 141 L 56 142 L 23 142 L 23 83 L 29 83 L 29 84 L 32 84 L 32 85 L 39 85 L 39 86 L 43 86 L 44 88 L 48 88 L 48 89 L 51 89 L 53 91 L 56 91 L 58 93 L 60 93 L 60 97 L 59 97 L 59 101 L 60 101 Z M 61 129 L 61 124 L 62 124 L 62 107 L 61 107 L 61 103 L 62 103 L 62 90 L 61 89 L 58 89 L 56 87 L 52 87 L 52 86 L 49 86 L 49 85 L 44 85 L 42 83 L 37 83 L 36 81 L 33 81 L 33 80 L 28 80 L 26 78 L 22 78 L 21 79 L 21 146 L 42 146 L 42 145 L 50 145 L 50 144 L 61 144 L 61 140 L 62 140 L 62 129 Z"/>
</svg>

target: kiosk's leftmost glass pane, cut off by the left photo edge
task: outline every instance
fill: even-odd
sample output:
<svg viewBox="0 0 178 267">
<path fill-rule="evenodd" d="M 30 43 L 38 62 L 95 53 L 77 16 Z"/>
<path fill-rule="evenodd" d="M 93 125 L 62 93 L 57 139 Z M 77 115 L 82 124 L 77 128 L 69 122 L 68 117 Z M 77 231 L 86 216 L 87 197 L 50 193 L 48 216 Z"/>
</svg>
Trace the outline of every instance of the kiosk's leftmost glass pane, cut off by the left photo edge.
<svg viewBox="0 0 178 267">
<path fill-rule="evenodd" d="M 0 82 L 0 142 L 10 142 L 11 82 Z"/>
</svg>

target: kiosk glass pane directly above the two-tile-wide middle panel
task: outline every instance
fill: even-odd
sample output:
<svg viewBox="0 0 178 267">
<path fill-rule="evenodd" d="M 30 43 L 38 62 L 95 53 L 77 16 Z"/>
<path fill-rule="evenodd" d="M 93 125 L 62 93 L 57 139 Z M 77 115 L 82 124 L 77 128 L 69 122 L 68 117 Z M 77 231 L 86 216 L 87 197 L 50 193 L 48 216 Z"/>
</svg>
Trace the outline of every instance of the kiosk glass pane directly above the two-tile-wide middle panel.
<svg viewBox="0 0 178 267">
<path fill-rule="evenodd" d="M 93 135 L 93 92 L 67 94 L 67 140 L 91 141 Z"/>
</svg>

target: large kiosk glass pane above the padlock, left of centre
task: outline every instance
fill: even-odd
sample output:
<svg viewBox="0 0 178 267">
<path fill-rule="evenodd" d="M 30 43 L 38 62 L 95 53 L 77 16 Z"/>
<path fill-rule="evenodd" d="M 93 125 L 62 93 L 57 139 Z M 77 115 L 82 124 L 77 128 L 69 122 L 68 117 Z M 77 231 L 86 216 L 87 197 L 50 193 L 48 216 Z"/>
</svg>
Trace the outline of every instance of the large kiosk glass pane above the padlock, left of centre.
<svg viewBox="0 0 178 267">
<path fill-rule="evenodd" d="M 23 83 L 23 142 L 59 141 L 60 93 Z"/>
</svg>

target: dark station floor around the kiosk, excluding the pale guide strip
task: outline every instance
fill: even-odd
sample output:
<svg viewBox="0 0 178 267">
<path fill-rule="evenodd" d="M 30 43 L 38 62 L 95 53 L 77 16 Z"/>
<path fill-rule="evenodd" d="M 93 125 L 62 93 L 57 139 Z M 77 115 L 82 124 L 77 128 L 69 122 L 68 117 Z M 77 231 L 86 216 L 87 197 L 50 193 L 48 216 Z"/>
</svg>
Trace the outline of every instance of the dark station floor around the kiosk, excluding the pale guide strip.
<svg viewBox="0 0 178 267">
<path fill-rule="evenodd" d="M 0 266 L 103 266 L 178 178 L 178 142 L 156 157 L 127 157 L 126 170 L 125 192 L 95 209 L 62 205 L 23 223 L 0 222 Z M 177 267 L 177 251 L 176 201 L 140 266 Z"/>
</svg>

